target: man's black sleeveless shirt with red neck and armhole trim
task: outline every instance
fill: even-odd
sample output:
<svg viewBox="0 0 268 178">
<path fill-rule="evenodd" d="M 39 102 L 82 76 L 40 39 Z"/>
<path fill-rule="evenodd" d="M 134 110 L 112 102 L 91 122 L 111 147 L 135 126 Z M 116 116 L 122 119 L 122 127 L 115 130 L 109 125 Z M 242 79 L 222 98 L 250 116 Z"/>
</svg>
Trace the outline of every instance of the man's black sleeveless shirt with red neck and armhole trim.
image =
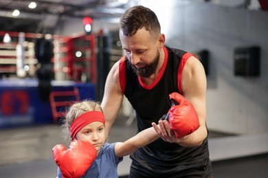
<svg viewBox="0 0 268 178">
<path fill-rule="evenodd" d="M 145 86 L 139 81 L 139 77 L 131 69 L 126 57 L 120 62 L 121 88 L 136 112 L 138 131 L 152 127 L 152 122 L 158 123 L 159 118 L 168 112 L 171 106 L 170 93 L 182 94 L 178 81 L 180 81 L 183 62 L 185 64 L 191 54 L 168 47 L 164 47 L 164 51 L 164 66 L 150 86 Z M 192 174 L 211 177 L 207 138 L 199 147 L 181 147 L 179 144 L 165 142 L 159 138 L 135 151 L 131 159 L 133 160 L 131 172 L 137 177 L 167 175 L 183 177 Z"/>
</svg>

